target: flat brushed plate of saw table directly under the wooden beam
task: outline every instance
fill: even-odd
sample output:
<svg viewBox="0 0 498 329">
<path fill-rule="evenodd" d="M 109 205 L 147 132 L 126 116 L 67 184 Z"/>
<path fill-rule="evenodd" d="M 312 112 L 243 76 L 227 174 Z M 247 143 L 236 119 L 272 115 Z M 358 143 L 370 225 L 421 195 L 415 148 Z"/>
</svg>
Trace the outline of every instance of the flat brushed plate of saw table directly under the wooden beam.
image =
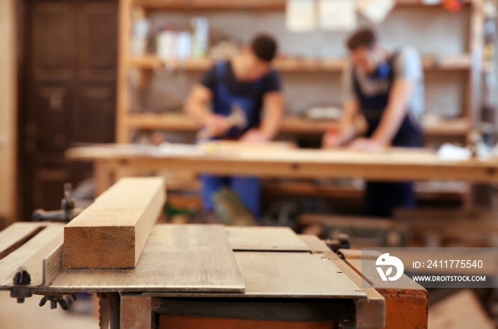
<svg viewBox="0 0 498 329">
<path fill-rule="evenodd" d="M 58 291 L 242 293 L 245 284 L 222 225 L 155 225 L 134 269 L 63 269 Z"/>
</svg>

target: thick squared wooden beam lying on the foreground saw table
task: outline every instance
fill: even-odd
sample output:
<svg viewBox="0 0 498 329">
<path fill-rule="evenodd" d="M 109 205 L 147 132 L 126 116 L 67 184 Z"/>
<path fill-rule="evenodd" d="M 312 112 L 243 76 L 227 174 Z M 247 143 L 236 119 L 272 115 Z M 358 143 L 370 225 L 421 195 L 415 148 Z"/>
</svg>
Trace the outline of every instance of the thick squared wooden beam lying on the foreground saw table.
<svg viewBox="0 0 498 329">
<path fill-rule="evenodd" d="M 165 199 L 163 178 L 120 179 L 64 227 L 64 267 L 134 267 Z"/>
</svg>

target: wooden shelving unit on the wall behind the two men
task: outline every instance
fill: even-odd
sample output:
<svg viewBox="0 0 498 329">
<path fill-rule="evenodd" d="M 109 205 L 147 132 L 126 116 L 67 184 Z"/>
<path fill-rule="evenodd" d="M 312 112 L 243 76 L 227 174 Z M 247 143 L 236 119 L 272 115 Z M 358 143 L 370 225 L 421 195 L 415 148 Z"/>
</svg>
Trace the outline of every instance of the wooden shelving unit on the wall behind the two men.
<svg viewBox="0 0 498 329">
<path fill-rule="evenodd" d="M 466 53 L 452 56 L 424 55 L 423 68 L 426 71 L 467 72 L 467 95 L 465 111 L 458 119 L 425 124 L 425 134 L 430 136 L 465 137 L 475 126 L 480 109 L 482 44 L 484 14 L 482 0 L 466 0 L 470 6 L 469 43 Z M 422 0 L 397 0 L 397 6 L 425 6 Z M 129 55 L 131 36 L 131 12 L 133 6 L 144 11 L 283 11 L 285 0 L 120 0 L 120 58 L 117 99 L 117 142 L 128 143 L 132 129 L 169 131 L 195 131 L 198 124 L 180 114 L 135 113 L 130 110 L 128 79 L 130 70 L 139 70 L 140 85 L 146 87 L 151 72 L 167 67 L 178 72 L 202 72 L 213 65 L 209 58 L 185 62 L 164 63 L 155 55 L 134 57 Z M 331 74 L 341 72 L 344 58 L 278 58 L 275 68 L 285 73 Z M 320 134 L 331 122 L 309 119 L 287 118 L 281 131 L 292 134 Z"/>
</svg>

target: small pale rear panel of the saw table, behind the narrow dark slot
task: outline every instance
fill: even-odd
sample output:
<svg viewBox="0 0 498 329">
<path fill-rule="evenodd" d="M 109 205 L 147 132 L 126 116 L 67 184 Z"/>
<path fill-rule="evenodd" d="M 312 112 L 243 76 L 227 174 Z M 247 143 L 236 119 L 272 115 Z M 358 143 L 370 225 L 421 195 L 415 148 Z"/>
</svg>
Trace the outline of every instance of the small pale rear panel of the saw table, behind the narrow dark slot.
<svg viewBox="0 0 498 329">
<path fill-rule="evenodd" d="M 309 247 L 289 227 L 226 227 L 234 251 L 309 252 Z"/>
</svg>

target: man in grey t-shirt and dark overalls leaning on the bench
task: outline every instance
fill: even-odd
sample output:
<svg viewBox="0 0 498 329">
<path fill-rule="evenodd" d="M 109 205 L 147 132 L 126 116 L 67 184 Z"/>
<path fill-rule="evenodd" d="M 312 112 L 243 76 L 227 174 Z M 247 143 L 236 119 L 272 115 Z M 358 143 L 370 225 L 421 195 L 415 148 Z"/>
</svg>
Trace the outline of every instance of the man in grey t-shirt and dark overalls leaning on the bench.
<svg viewBox="0 0 498 329">
<path fill-rule="evenodd" d="M 324 135 L 324 147 L 348 146 L 358 151 L 422 147 L 423 68 L 417 51 L 403 46 L 388 52 L 368 28 L 356 31 L 347 46 L 350 65 L 343 72 L 343 114 L 337 131 Z M 361 137 L 355 125 L 358 114 L 368 123 Z M 391 217 L 396 207 L 414 206 L 412 182 L 366 183 L 365 215 Z"/>
</svg>

